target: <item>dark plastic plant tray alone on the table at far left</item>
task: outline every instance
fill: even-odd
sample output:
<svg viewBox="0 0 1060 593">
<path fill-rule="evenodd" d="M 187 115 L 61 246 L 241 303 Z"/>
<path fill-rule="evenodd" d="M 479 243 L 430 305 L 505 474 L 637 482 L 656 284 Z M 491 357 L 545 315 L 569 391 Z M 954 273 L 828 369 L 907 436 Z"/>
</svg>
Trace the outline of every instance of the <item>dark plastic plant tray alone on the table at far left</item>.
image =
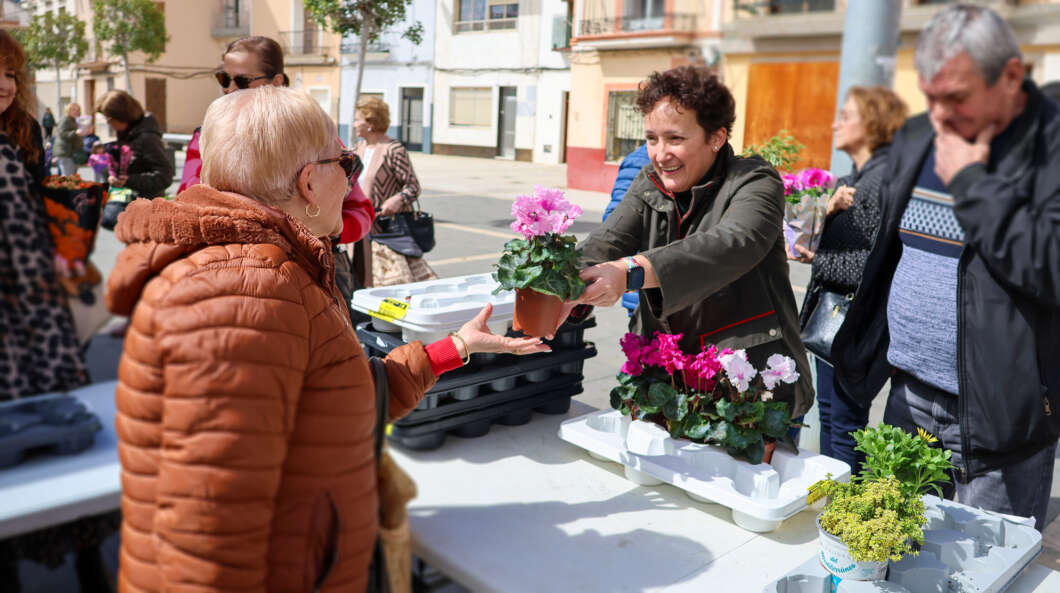
<svg viewBox="0 0 1060 593">
<path fill-rule="evenodd" d="M 92 447 L 100 419 L 76 398 L 31 398 L 0 404 L 0 468 L 30 453 L 70 455 Z"/>
</svg>

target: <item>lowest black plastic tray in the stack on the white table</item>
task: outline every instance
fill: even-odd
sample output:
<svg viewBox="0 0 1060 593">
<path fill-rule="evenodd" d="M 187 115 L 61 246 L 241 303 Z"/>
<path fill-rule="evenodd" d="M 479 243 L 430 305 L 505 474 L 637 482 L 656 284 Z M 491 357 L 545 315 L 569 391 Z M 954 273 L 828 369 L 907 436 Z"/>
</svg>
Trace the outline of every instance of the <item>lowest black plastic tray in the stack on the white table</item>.
<svg viewBox="0 0 1060 593">
<path fill-rule="evenodd" d="M 582 393 L 580 380 L 565 387 L 538 391 L 536 395 L 509 399 L 502 403 L 482 407 L 442 418 L 431 422 L 421 422 L 412 425 L 391 424 L 387 434 L 391 442 L 406 449 L 428 451 L 438 449 L 445 443 L 447 435 L 464 438 L 482 436 L 490 432 L 493 424 L 516 426 L 526 424 L 533 413 L 566 414 L 570 409 L 570 398 Z"/>
</svg>

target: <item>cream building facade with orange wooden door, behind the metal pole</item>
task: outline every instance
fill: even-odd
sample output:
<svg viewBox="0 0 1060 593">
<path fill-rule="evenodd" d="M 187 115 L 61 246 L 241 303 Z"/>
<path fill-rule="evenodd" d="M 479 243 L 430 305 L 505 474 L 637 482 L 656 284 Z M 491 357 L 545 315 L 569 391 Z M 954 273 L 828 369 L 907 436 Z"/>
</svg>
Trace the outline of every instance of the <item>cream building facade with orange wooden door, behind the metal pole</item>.
<svg viewBox="0 0 1060 593">
<path fill-rule="evenodd" d="M 806 145 L 797 167 L 829 168 L 831 123 L 846 5 L 853 0 L 737 0 L 723 25 L 723 75 L 737 99 L 734 143 L 743 146 L 788 129 Z M 913 55 L 917 36 L 947 2 L 901 0 L 895 91 L 913 114 L 926 107 Z M 1060 2 L 986 2 L 1012 27 L 1029 75 L 1060 80 Z"/>
</svg>

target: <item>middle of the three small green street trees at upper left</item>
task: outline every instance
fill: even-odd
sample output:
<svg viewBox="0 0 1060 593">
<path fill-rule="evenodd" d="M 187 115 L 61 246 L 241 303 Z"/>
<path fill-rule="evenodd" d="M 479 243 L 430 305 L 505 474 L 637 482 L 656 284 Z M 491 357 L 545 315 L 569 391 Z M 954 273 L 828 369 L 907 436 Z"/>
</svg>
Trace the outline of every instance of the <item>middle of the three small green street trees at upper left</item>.
<svg viewBox="0 0 1060 593">
<path fill-rule="evenodd" d="M 162 55 L 170 40 L 165 34 L 165 15 L 152 0 L 95 0 L 92 30 L 96 39 L 110 43 L 112 55 L 121 56 L 129 94 L 134 94 L 129 54 L 141 51 L 149 64 Z"/>
</svg>

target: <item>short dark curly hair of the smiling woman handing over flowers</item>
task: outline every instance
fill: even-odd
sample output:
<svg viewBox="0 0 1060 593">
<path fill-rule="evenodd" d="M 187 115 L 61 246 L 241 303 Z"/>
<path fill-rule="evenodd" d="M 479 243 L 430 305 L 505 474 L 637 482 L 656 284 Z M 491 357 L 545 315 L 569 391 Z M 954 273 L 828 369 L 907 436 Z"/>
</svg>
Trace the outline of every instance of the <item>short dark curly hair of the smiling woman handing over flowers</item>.
<svg viewBox="0 0 1060 593">
<path fill-rule="evenodd" d="M 640 83 L 638 91 L 637 107 L 646 116 L 659 101 L 670 99 L 679 107 L 695 111 L 695 120 L 708 136 L 723 127 L 729 136 L 732 134 L 736 100 L 709 68 L 678 66 L 652 72 Z"/>
</svg>

